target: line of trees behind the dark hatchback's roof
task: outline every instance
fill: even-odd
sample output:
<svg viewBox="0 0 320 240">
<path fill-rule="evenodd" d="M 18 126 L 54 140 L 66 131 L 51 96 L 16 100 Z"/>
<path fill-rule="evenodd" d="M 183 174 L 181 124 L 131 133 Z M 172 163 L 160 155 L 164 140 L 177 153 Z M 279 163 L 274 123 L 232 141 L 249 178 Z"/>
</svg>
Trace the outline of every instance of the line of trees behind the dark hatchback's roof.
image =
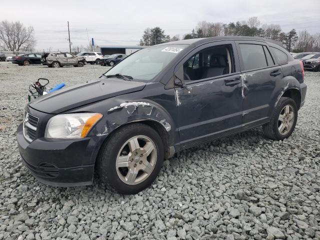
<svg viewBox="0 0 320 240">
<path fill-rule="evenodd" d="M 212 37 L 212 36 L 256 36 L 270 38 L 282 42 L 288 51 L 320 51 L 320 33 L 311 35 L 307 30 L 296 32 L 293 28 L 288 32 L 281 30 L 278 24 L 261 24 L 256 16 L 246 21 L 209 22 L 199 21 L 191 32 L 185 33 L 181 39 Z M 164 30 L 156 26 L 146 28 L 140 39 L 140 45 L 155 45 L 168 41 L 179 40 L 179 35 L 170 37 Z"/>
</svg>

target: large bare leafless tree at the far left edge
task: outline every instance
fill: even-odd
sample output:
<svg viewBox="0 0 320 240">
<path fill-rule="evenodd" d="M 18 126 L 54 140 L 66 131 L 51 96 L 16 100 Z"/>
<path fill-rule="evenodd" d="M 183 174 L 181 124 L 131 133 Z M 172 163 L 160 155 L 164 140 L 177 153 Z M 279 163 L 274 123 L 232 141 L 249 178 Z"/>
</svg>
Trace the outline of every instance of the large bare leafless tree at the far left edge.
<svg viewBox="0 0 320 240">
<path fill-rule="evenodd" d="M 9 51 L 30 51 L 35 45 L 34 28 L 25 27 L 19 21 L 0 22 L 0 48 Z"/>
</svg>

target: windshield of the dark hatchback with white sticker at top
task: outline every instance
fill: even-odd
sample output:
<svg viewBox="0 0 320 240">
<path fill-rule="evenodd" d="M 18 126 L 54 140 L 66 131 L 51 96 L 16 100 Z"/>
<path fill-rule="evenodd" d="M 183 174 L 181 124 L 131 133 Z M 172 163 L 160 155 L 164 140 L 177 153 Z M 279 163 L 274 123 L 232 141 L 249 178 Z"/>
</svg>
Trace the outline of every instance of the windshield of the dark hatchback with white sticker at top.
<svg viewBox="0 0 320 240">
<path fill-rule="evenodd" d="M 106 75 L 120 73 L 134 79 L 151 80 L 187 45 L 159 45 L 143 48 L 125 58 Z"/>
</svg>

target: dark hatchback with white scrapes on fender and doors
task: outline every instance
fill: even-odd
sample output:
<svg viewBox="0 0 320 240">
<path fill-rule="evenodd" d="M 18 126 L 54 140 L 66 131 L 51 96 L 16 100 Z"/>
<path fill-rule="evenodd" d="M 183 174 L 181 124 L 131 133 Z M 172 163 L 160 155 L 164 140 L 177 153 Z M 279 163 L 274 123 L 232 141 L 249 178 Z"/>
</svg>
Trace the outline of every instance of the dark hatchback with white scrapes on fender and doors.
<svg viewBox="0 0 320 240">
<path fill-rule="evenodd" d="M 164 158 L 259 125 L 291 135 L 303 65 L 275 41 L 210 37 L 143 48 L 100 78 L 46 94 L 17 129 L 22 161 L 41 182 L 92 183 L 122 193 L 156 178 Z"/>
</svg>

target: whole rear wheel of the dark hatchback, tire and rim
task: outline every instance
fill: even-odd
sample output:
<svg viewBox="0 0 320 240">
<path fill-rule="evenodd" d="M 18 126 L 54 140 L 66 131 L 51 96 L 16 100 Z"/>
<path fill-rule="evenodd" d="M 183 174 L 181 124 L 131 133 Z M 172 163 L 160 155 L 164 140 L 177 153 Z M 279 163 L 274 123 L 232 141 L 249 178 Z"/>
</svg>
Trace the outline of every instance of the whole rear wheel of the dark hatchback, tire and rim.
<svg viewBox="0 0 320 240">
<path fill-rule="evenodd" d="M 288 138 L 294 130 L 297 116 L 295 101 L 289 97 L 281 97 L 271 113 L 270 121 L 262 127 L 264 135 L 273 140 Z"/>
</svg>

